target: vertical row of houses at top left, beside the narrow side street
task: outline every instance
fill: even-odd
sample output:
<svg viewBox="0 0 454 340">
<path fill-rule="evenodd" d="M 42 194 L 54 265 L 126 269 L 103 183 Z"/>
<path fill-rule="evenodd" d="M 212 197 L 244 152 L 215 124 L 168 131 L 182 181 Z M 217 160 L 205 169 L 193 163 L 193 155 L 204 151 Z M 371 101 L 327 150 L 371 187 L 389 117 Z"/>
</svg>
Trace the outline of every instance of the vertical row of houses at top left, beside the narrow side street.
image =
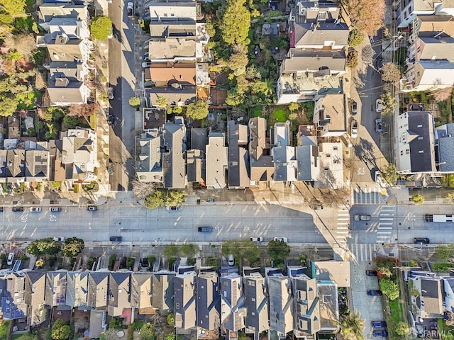
<svg viewBox="0 0 454 340">
<path fill-rule="evenodd" d="M 39 6 L 38 17 L 39 26 L 47 32 L 36 37 L 36 45 L 48 52 L 43 64 L 48 69 L 45 106 L 87 103 L 94 88 L 89 86 L 94 79 L 90 72 L 95 72 L 89 66 L 93 42 L 87 5 L 45 3 Z"/>
</svg>

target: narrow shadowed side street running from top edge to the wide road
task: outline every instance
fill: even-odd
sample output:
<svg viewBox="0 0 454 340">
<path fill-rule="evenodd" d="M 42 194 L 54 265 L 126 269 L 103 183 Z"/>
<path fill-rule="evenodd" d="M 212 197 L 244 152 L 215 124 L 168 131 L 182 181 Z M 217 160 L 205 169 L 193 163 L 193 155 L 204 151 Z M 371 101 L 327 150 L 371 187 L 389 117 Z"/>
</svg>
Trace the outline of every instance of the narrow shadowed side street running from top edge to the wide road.
<svg viewBox="0 0 454 340">
<path fill-rule="evenodd" d="M 111 175 L 111 190 L 128 188 L 133 176 L 134 109 L 129 98 L 134 96 L 134 26 L 126 16 L 125 3 L 109 4 L 109 17 L 114 27 L 114 38 L 109 40 L 109 81 L 114 88 L 115 98 L 110 102 L 110 113 L 114 124 L 109 137 L 110 156 L 114 163 Z"/>
</svg>

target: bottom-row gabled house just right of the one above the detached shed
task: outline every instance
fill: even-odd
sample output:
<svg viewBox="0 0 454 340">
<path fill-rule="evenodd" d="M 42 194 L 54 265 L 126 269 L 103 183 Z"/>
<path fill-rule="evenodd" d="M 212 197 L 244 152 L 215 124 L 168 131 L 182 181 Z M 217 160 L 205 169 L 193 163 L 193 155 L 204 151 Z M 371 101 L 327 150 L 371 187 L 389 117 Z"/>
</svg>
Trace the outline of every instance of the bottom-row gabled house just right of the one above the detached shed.
<svg viewBox="0 0 454 340">
<path fill-rule="evenodd" d="M 109 307 L 111 317 L 120 317 L 123 310 L 131 309 L 129 294 L 131 292 L 131 272 L 116 271 L 109 276 Z"/>
</svg>

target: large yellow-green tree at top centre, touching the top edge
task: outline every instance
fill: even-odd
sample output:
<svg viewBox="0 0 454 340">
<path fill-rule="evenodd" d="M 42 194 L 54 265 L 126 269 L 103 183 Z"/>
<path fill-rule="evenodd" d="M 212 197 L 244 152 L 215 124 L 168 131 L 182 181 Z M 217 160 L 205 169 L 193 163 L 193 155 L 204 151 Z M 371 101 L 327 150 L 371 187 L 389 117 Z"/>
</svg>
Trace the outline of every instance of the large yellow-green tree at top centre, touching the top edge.
<svg viewBox="0 0 454 340">
<path fill-rule="evenodd" d="M 221 12 L 219 29 L 222 40 L 228 45 L 243 43 L 248 38 L 250 28 L 250 12 L 245 0 L 227 0 Z"/>
</svg>

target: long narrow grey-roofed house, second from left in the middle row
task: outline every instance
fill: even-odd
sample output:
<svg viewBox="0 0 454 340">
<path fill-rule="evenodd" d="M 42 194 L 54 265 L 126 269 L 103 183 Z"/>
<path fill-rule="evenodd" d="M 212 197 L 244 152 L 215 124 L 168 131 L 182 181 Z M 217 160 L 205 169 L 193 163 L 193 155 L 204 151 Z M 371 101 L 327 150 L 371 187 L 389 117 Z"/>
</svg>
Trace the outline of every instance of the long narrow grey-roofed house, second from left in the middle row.
<svg viewBox="0 0 454 340">
<path fill-rule="evenodd" d="M 187 176 L 184 162 L 186 153 L 186 125 L 182 117 L 175 123 L 167 122 L 162 128 L 162 174 L 164 188 L 186 188 Z"/>
</svg>

